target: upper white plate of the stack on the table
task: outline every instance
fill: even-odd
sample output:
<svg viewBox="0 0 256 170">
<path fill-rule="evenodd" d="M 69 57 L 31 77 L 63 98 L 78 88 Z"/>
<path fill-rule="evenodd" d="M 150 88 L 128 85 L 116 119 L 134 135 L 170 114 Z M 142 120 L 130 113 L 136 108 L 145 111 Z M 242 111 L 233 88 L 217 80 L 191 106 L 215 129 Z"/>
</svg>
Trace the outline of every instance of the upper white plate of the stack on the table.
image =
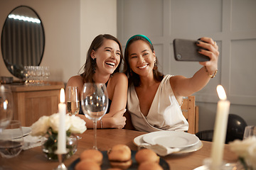
<svg viewBox="0 0 256 170">
<path fill-rule="evenodd" d="M 196 135 L 180 131 L 157 131 L 144 135 L 143 140 L 150 145 L 163 145 L 164 147 L 191 147 L 198 143 Z"/>
</svg>

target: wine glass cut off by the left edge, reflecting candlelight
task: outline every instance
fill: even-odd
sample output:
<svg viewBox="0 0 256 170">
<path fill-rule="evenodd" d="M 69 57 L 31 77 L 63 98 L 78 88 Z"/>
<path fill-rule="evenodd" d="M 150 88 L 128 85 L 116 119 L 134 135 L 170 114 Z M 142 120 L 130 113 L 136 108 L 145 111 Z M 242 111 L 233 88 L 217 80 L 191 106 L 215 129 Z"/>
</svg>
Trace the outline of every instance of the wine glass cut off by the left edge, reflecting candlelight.
<svg viewBox="0 0 256 170">
<path fill-rule="evenodd" d="M 0 134 L 9 125 L 13 116 L 13 96 L 8 86 L 0 84 Z"/>
</svg>

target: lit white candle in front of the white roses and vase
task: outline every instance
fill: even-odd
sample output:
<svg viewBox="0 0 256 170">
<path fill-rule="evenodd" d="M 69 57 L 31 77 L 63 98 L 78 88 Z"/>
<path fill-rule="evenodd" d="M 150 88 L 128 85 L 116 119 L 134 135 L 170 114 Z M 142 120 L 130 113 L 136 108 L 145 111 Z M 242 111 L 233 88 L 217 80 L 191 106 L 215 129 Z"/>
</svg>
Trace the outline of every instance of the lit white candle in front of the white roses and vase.
<svg viewBox="0 0 256 170">
<path fill-rule="evenodd" d="M 60 103 L 58 104 L 58 113 L 60 115 L 59 127 L 58 127 L 58 149 L 56 154 L 67 153 L 66 149 L 66 132 L 65 132 L 65 92 L 64 89 L 60 90 Z"/>
</svg>

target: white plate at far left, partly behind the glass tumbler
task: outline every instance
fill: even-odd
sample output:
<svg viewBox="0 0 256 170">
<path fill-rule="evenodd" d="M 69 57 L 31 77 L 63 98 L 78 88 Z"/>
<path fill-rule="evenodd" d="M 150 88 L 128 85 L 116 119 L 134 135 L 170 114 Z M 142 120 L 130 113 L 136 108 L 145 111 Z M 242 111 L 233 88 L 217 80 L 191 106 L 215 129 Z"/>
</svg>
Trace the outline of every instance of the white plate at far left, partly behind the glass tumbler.
<svg viewBox="0 0 256 170">
<path fill-rule="evenodd" d="M 23 137 L 28 135 L 31 132 L 31 128 L 30 127 L 21 127 L 22 132 L 23 132 Z M 3 130 L 3 132 L 1 132 L 1 138 L 2 140 L 4 139 L 9 139 L 9 134 L 12 134 L 12 139 L 16 139 L 18 137 L 21 137 L 21 133 L 18 129 L 8 129 L 8 130 Z"/>
</svg>

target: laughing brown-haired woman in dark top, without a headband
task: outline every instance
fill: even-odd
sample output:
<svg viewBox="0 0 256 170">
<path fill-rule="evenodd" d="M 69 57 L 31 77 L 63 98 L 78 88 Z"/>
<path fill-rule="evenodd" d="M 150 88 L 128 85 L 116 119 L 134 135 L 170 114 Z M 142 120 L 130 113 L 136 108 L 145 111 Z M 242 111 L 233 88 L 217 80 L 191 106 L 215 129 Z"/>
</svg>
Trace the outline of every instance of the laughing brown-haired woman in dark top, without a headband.
<svg viewBox="0 0 256 170">
<path fill-rule="evenodd" d="M 125 74 L 119 73 L 122 59 L 122 45 L 117 38 L 97 35 L 87 52 L 84 72 L 68 80 L 67 87 L 78 86 L 79 97 L 87 82 L 106 84 L 109 108 L 97 128 L 123 128 L 125 125 L 128 80 Z M 78 116 L 85 120 L 87 128 L 93 128 L 92 120 L 85 118 L 81 107 Z"/>
</svg>

